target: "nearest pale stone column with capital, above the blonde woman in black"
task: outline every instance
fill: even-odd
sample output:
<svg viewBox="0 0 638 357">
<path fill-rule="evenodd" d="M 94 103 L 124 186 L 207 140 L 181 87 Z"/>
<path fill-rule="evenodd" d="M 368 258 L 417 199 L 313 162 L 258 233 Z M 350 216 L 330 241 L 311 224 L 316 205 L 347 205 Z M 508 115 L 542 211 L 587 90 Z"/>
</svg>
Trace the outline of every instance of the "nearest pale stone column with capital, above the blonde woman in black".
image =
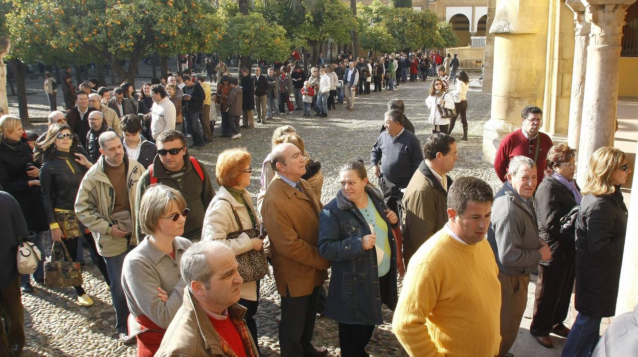
<svg viewBox="0 0 638 357">
<path fill-rule="evenodd" d="M 584 183 L 588 160 L 596 149 L 614 144 L 618 102 L 618 63 L 627 8 L 635 0 L 581 0 L 591 22 L 587 47 L 587 90 L 582 100 L 578 181 Z M 611 4 L 610 4 L 611 3 Z"/>
</svg>

